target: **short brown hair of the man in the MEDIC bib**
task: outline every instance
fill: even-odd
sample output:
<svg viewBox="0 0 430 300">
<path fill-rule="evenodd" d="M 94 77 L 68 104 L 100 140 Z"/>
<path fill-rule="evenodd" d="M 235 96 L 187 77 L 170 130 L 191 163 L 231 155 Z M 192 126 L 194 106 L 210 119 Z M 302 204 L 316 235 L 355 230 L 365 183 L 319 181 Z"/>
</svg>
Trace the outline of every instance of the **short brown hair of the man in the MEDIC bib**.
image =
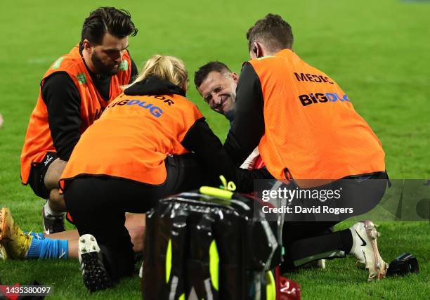
<svg viewBox="0 0 430 300">
<path fill-rule="evenodd" d="M 254 41 L 263 43 L 269 51 L 291 49 L 294 41 L 291 26 L 280 15 L 269 13 L 255 22 L 247 32 L 248 49 L 251 51 Z"/>
</svg>

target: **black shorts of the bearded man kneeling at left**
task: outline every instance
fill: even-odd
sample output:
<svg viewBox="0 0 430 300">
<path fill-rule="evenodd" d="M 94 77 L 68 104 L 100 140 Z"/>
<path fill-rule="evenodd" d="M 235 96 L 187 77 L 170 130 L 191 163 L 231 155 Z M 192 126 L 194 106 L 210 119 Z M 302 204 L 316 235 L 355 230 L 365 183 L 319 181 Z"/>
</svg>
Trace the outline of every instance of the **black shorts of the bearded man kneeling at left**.
<svg viewBox="0 0 430 300">
<path fill-rule="evenodd" d="M 49 165 L 57 158 L 58 155 L 56 152 L 46 152 L 46 155 L 41 162 L 32 163 L 28 184 L 32 187 L 34 194 L 43 199 L 48 199 L 50 192 L 45 185 L 46 171 L 48 171 Z"/>
</svg>

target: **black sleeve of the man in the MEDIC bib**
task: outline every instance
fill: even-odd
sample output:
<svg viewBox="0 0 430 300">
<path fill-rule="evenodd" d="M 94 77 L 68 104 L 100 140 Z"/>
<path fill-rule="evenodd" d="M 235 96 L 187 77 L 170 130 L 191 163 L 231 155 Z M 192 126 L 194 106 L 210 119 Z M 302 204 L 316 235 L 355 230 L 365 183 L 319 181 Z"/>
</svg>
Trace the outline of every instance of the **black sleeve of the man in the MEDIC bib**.
<svg viewBox="0 0 430 300">
<path fill-rule="evenodd" d="M 263 92 L 260 79 L 249 63 L 242 67 L 236 89 L 235 119 L 228 132 L 224 149 L 240 166 L 260 143 L 264 134 Z"/>
</svg>

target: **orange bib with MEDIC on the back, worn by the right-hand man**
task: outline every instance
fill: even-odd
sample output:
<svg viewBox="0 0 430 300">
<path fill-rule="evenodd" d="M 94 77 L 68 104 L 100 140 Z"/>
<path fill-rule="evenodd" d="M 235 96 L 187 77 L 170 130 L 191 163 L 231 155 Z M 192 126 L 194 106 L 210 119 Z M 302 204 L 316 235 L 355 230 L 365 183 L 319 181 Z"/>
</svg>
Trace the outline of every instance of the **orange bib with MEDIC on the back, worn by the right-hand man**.
<svg viewBox="0 0 430 300">
<path fill-rule="evenodd" d="M 249 63 L 263 92 L 259 151 L 275 178 L 323 184 L 385 170 L 382 144 L 327 74 L 288 49 Z"/>
</svg>

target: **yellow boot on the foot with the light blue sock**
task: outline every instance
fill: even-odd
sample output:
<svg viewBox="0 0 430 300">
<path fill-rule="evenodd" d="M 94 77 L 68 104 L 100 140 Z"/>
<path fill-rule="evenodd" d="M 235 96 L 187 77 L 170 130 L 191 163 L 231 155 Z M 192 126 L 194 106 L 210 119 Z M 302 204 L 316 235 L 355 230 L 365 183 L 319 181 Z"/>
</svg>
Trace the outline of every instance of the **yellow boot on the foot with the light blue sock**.
<svg viewBox="0 0 430 300">
<path fill-rule="evenodd" d="M 24 259 L 32 239 L 32 235 L 23 233 L 15 224 L 8 208 L 4 207 L 0 210 L 0 243 L 6 248 L 11 259 Z"/>
</svg>

